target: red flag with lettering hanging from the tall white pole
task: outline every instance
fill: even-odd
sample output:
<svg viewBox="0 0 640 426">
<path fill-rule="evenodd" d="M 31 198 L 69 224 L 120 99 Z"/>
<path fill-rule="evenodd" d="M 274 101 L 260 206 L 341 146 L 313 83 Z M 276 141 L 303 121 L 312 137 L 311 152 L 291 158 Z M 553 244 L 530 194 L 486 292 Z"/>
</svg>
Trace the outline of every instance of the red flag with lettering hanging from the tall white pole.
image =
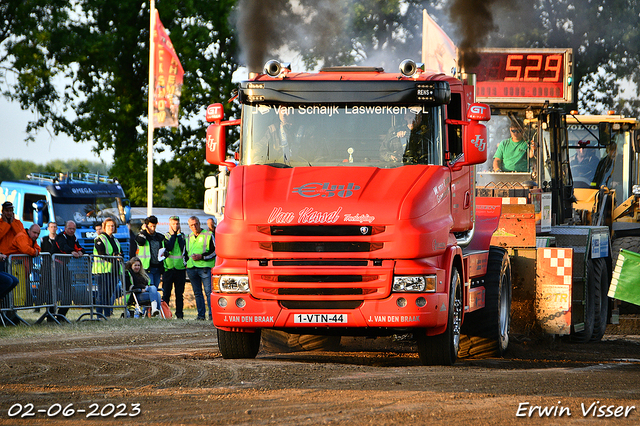
<svg viewBox="0 0 640 426">
<path fill-rule="evenodd" d="M 156 11 L 153 127 L 178 127 L 184 70 Z"/>
</svg>

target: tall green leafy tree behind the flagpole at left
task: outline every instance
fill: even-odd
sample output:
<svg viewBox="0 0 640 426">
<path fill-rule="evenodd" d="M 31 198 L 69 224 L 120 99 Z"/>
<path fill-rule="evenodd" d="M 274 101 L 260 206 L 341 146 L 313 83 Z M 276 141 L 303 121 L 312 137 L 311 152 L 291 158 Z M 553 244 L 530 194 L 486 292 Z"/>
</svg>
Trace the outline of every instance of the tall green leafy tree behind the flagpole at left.
<svg viewBox="0 0 640 426">
<path fill-rule="evenodd" d="M 14 9 L 23 7 L 10 0 Z M 29 6 L 40 19 L 15 13 L 13 35 L 6 38 L 3 65 L 17 76 L 4 79 L 5 95 L 40 120 L 29 130 L 52 126 L 95 151 L 114 150 L 112 176 L 122 182 L 133 204 L 146 203 L 149 9 L 140 0 L 47 2 Z M 229 14 L 234 0 L 158 0 L 157 10 L 185 69 L 180 126 L 156 129 L 155 151 L 172 161 L 154 168 L 154 203 L 161 204 L 166 182 L 181 184 L 183 207 L 203 203 L 205 164 L 204 109 L 231 92 L 234 38 Z M 3 3 L 4 6 L 4 3 Z M 26 9 L 25 9 L 26 10 Z M 21 25 L 24 25 L 23 26 Z M 5 75 L 6 77 L 6 75 Z M 63 87 L 54 82 L 62 80 Z"/>
</svg>

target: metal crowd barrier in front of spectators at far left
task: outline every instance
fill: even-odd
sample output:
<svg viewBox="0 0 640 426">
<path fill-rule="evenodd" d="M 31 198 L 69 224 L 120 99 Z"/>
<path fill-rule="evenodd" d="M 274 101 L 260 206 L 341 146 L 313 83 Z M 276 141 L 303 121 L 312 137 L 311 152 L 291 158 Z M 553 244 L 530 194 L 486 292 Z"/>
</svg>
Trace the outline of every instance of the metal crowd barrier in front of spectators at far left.
<svg viewBox="0 0 640 426">
<path fill-rule="evenodd" d="M 45 318 L 59 323 L 69 309 L 87 309 L 78 321 L 106 319 L 114 309 L 122 308 L 126 316 L 124 262 L 116 256 L 74 257 L 70 254 L 42 253 L 39 256 L 11 255 L 7 272 L 18 278 L 18 285 L 0 300 L 3 324 L 29 325 L 19 311 L 40 309 Z M 10 314 L 10 316 L 9 316 Z"/>
</svg>

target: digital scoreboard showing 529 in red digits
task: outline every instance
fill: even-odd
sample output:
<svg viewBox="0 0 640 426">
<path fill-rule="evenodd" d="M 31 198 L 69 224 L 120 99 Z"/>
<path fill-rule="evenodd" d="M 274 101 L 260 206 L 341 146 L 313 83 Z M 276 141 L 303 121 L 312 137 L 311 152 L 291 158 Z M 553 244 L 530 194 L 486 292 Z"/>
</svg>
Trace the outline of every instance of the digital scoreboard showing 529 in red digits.
<svg viewBox="0 0 640 426">
<path fill-rule="evenodd" d="M 478 102 L 570 103 L 573 100 L 571 49 L 480 49 L 476 75 Z"/>
</svg>

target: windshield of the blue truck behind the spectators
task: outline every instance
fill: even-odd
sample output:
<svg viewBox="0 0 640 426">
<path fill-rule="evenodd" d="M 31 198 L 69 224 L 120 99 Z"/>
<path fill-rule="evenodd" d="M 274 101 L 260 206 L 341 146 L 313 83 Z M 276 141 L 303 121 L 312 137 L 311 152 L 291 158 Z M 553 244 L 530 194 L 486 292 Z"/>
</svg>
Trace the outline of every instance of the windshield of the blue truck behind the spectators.
<svg viewBox="0 0 640 426">
<path fill-rule="evenodd" d="M 117 197 L 54 198 L 53 204 L 56 223 L 60 226 L 64 226 L 68 220 L 73 220 L 78 226 L 92 226 L 107 217 L 113 218 L 118 226 L 124 223 L 124 215 L 121 214 L 124 210 Z"/>
</svg>

